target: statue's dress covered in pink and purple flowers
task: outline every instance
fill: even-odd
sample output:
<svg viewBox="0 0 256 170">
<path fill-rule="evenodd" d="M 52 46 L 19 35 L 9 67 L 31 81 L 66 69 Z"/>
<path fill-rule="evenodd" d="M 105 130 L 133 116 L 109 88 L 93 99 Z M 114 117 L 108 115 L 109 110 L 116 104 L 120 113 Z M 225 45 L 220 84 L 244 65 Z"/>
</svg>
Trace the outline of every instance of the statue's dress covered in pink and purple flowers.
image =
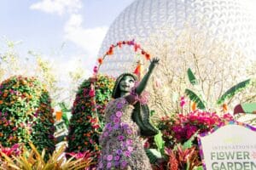
<svg viewBox="0 0 256 170">
<path fill-rule="evenodd" d="M 139 127 L 131 119 L 133 108 L 124 97 L 108 103 L 106 125 L 100 137 L 102 155 L 98 161 L 98 170 L 152 169 L 140 139 Z"/>
</svg>

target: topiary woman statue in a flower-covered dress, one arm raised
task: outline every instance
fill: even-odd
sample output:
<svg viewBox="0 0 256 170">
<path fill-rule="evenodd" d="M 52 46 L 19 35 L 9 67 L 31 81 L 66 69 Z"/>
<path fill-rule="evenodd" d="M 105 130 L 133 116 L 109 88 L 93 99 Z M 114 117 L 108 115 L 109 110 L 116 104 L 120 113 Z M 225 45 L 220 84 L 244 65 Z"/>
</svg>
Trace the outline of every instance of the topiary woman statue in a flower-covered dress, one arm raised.
<svg viewBox="0 0 256 170">
<path fill-rule="evenodd" d="M 113 100 L 105 110 L 105 127 L 100 137 L 102 154 L 97 169 L 152 169 L 140 136 L 151 136 L 158 131 L 148 121 L 149 110 L 143 90 L 159 63 L 152 59 L 148 72 L 137 84 L 137 76 L 120 75 L 113 88 Z"/>
</svg>

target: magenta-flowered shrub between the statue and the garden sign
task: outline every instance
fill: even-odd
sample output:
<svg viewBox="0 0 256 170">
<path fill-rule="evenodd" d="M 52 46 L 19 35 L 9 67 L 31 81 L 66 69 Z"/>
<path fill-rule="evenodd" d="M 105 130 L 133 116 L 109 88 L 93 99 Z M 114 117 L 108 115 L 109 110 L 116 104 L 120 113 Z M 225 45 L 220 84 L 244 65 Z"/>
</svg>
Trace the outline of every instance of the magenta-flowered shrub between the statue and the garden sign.
<svg viewBox="0 0 256 170">
<path fill-rule="evenodd" d="M 170 139 L 166 143 L 183 143 L 198 132 L 209 132 L 212 128 L 224 125 L 224 122 L 232 121 L 230 114 L 218 116 L 214 112 L 191 111 L 188 114 L 177 114 L 173 117 L 164 117 L 158 127 L 164 135 L 164 139 Z"/>
</svg>

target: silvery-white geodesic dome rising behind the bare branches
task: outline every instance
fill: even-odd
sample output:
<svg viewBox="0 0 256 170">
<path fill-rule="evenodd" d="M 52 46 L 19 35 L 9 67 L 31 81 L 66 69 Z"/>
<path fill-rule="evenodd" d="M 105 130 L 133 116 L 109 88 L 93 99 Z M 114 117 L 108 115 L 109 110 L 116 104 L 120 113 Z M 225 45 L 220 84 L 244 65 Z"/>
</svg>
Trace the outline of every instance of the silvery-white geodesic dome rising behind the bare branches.
<svg viewBox="0 0 256 170">
<path fill-rule="evenodd" d="M 148 37 L 160 26 L 184 29 L 185 24 L 209 31 L 212 37 L 235 43 L 249 58 L 256 56 L 256 15 L 253 0 L 136 0 L 113 21 L 98 56 L 113 43 Z M 140 42 L 143 46 L 143 42 Z M 133 53 L 133 54 L 132 54 Z M 128 48 L 106 58 L 100 72 L 112 76 L 127 71 L 134 62 Z"/>
</svg>

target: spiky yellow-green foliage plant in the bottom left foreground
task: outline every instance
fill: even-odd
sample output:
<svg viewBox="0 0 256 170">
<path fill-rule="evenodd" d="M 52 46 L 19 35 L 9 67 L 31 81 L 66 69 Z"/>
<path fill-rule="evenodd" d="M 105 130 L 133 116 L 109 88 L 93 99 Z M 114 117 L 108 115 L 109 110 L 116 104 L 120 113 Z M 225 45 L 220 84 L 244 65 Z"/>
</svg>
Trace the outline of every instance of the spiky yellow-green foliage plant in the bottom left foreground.
<svg viewBox="0 0 256 170">
<path fill-rule="evenodd" d="M 84 153 L 83 156 L 73 156 L 66 161 L 65 156 L 63 156 L 65 151 L 64 145 L 49 156 L 48 161 L 44 161 L 44 157 L 46 156 L 45 150 L 40 152 L 33 144 L 30 144 L 30 147 L 32 150 L 26 150 L 26 148 L 24 148 L 23 154 L 18 156 L 9 156 L 0 151 L 0 155 L 3 155 L 3 160 L 0 158 L 0 169 L 77 170 L 87 169 L 91 165 L 95 164 L 90 152 Z"/>
</svg>

